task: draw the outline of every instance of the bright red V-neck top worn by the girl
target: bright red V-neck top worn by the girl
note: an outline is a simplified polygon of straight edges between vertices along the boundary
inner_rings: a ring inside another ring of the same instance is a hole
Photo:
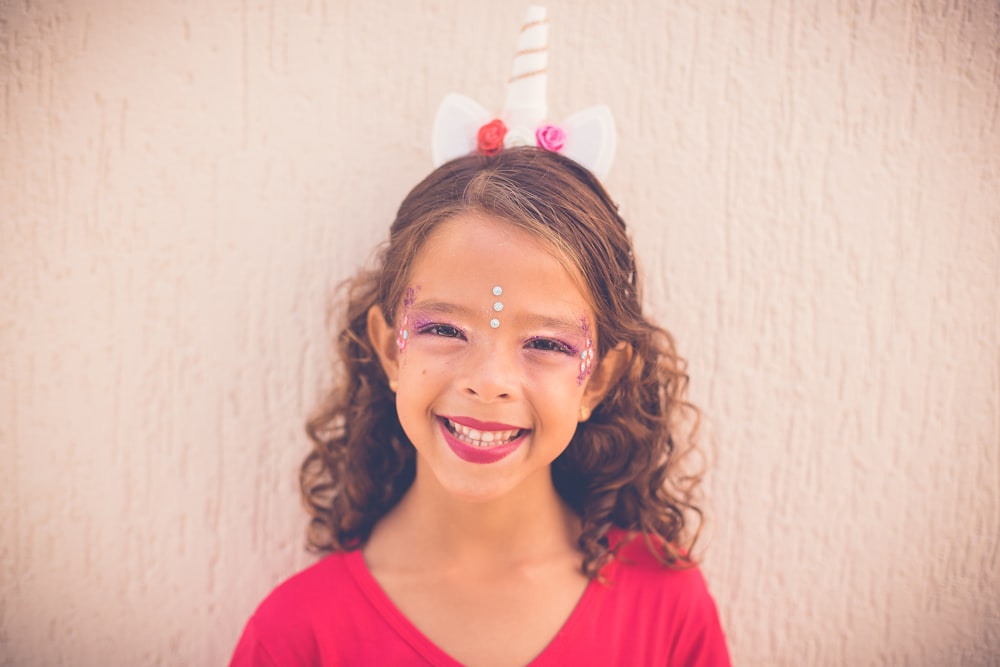
[[[635,539],[602,574],[605,582],[590,582],[530,667],[729,665],[715,602],[696,568],[664,568]],[[307,665],[461,667],[396,608],[360,551],[327,556],[278,586],[230,663]]]

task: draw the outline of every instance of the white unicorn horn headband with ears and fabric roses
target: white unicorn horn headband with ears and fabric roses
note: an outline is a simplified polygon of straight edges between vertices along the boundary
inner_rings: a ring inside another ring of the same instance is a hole
[[[565,155],[599,178],[607,175],[615,156],[615,121],[607,106],[578,111],[559,125],[546,119],[548,36],[545,8],[529,7],[499,117],[465,95],[445,96],[434,118],[435,167],[470,153],[492,155],[512,146],[538,146]]]

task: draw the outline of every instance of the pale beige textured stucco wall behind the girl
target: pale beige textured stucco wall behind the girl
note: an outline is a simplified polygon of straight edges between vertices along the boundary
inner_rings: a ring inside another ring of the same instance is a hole
[[[0,2],[0,664],[222,664],[309,562],[326,297],[524,7]],[[736,662],[997,664],[997,3],[549,10],[712,420]]]

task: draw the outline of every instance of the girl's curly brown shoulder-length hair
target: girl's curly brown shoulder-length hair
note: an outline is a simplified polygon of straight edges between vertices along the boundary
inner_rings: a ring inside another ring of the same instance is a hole
[[[585,168],[534,147],[470,155],[432,172],[403,200],[375,266],[347,282],[346,321],[336,338],[340,377],[307,432],[313,442],[300,486],[316,551],[359,548],[413,482],[416,453],[368,337],[380,306],[388,324],[430,232],[460,213],[508,222],[552,248],[581,281],[596,314],[598,357],[630,349],[621,377],[552,464],[556,490],[580,516],[582,570],[596,576],[614,557],[608,531],[641,534],[665,565],[684,566],[702,513],[698,409],[686,398],[686,364],[672,336],[642,313],[639,273],[625,222]]]

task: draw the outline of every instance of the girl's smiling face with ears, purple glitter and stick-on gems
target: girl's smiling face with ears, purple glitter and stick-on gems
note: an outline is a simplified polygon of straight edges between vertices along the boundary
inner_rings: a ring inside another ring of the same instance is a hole
[[[537,239],[468,213],[414,262],[389,330],[369,316],[418,481],[470,500],[551,485],[549,464],[602,395],[593,311]]]

